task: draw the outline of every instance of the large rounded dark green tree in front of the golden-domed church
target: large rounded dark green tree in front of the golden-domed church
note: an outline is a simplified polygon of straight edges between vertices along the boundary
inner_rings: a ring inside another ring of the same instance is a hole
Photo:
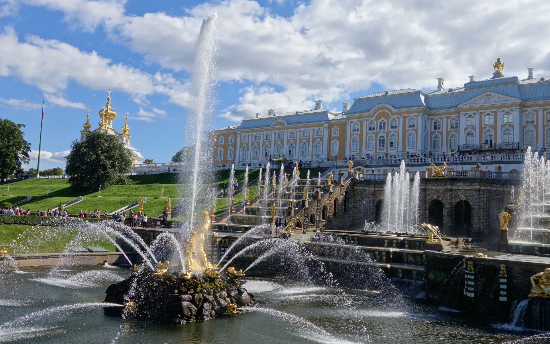
[[[69,184],[75,190],[97,190],[115,184],[130,184],[124,175],[130,171],[130,151],[117,136],[92,133],[82,142],[73,141],[67,157],[65,173],[71,176]]]

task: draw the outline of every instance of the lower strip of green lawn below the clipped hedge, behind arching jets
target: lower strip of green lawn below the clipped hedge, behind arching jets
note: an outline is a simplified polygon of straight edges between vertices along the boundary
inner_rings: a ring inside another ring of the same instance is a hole
[[[7,248],[9,254],[14,250],[8,247],[13,244],[15,253],[62,253],[67,252],[67,245],[99,246],[109,252],[115,252],[114,245],[105,238],[84,234],[65,227],[31,227],[27,225],[0,225],[0,247]]]

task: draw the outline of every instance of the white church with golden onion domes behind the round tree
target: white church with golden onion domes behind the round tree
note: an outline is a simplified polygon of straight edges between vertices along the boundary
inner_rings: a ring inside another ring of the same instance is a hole
[[[83,124],[84,129],[80,130],[80,142],[84,141],[87,135],[96,132],[116,135],[118,136],[118,140],[124,144],[124,148],[130,151],[132,164],[141,163],[144,160],[144,157],[141,156],[139,149],[136,149],[130,145],[132,135],[129,133],[130,128],[128,127],[128,112],[126,113],[126,122],[124,123],[124,127],[122,127],[122,133],[119,133],[117,130],[113,129],[113,120],[117,117],[117,112],[111,107],[112,92],[111,90],[107,92],[109,94],[107,96],[107,105],[103,106],[103,108],[98,111],[101,118],[101,121],[98,123],[99,127],[90,131],[92,126],[90,125],[90,109],[88,109],[88,117],[86,118],[86,123]]]

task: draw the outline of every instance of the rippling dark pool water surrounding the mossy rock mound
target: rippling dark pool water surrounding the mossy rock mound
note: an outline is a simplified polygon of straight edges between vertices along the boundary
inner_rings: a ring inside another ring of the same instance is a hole
[[[95,304],[106,286],[131,275],[128,269],[23,272],[2,275],[4,343],[503,343],[537,335],[423,299],[245,277],[241,282],[260,308],[234,318],[158,325],[108,316]]]

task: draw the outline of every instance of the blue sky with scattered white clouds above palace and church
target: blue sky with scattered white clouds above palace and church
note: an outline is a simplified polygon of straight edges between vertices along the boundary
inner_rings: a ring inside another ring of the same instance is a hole
[[[548,6],[0,0],[0,116],[25,124],[25,138],[37,150],[45,100],[41,167],[64,167],[86,109],[96,128],[111,89],[113,127],[124,125],[128,111],[132,145],[166,162],[185,142],[196,37],[202,18],[214,11],[218,84],[210,128],[270,108],[305,110],[317,99],[340,111],[343,102],[371,92],[434,89],[439,77],[447,87],[460,86],[468,75],[491,77],[497,57],[505,75],[525,78],[533,67],[548,76]]]

